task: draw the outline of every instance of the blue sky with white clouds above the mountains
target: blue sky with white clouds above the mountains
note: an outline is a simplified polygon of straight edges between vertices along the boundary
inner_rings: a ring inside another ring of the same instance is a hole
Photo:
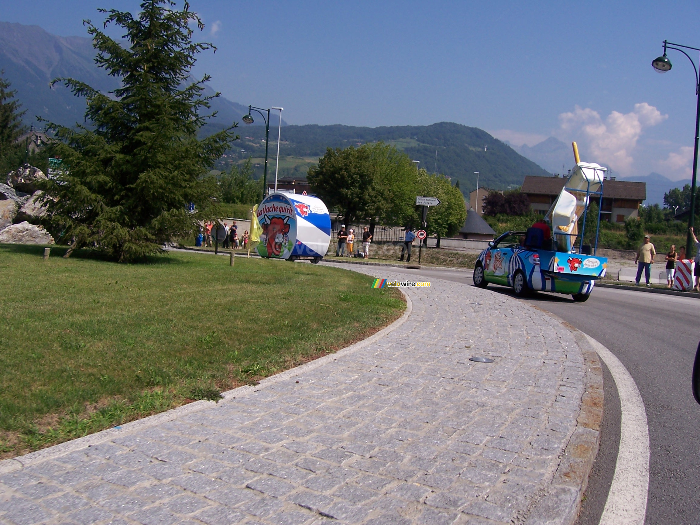
[[[621,176],[689,176],[694,72],[661,41],[700,48],[700,2],[192,0],[218,46],[212,87],[284,106],[292,124],[427,125],[450,120],[513,144],[577,140]],[[137,1],[0,1],[0,19],[85,35],[99,6]],[[698,53],[691,55],[698,59]]]

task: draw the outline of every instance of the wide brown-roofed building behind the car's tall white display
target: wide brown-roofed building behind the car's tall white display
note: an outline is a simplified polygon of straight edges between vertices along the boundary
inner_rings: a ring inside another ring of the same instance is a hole
[[[530,201],[530,208],[546,214],[566,184],[566,177],[540,177],[526,175],[520,188]],[[591,200],[601,207],[601,220],[624,223],[628,218],[637,218],[638,210],[647,198],[647,185],[643,182],[616,181],[610,177],[603,181],[603,202],[591,195]]]

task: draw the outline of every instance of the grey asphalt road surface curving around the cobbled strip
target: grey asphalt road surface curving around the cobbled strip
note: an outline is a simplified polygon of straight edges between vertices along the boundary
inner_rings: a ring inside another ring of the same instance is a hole
[[[471,272],[426,268],[400,271],[471,282]],[[489,288],[512,294],[502,286]],[[547,293],[538,293],[527,301],[607,346],[636,382],[647,412],[651,450],[645,523],[700,523],[700,405],[690,388],[700,339],[700,299],[596,288],[584,303],[575,303],[568,295]],[[603,379],[601,451],[589,479],[581,525],[597,523],[617,458],[619,400],[607,370]]]

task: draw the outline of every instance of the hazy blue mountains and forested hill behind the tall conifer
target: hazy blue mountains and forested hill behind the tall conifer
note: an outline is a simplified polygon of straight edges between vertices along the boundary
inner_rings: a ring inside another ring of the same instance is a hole
[[[55,36],[36,25],[0,22],[0,70],[23,104],[25,123],[43,127],[37,117],[62,125],[83,122],[85,102],[60,84],[50,87],[51,80],[71,77],[81,80],[102,92],[118,87],[118,80],[108,76],[94,64],[92,40],[80,36]],[[207,87],[204,94],[214,94]],[[255,174],[262,174],[265,155],[265,129],[262,118],[253,113],[255,124],[246,126],[241,117],[248,113],[247,106],[218,97],[211,102],[215,118],[202,128],[209,134],[222,127],[239,123],[237,141],[218,167],[240,164],[252,158]],[[279,117],[271,115],[270,127],[276,127]],[[436,123],[429,126],[353,127],[345,125],[286,125],[283,121],[280,172],[283,175],[305,176],[308,167],[318,162],[325,149],[358,146],[368,142],[384,141],[405,151],[420,167],[438,172],[459,181],[461,190],[468,193],[476,186],[496,189],[517,187],[525,175],[548,173],[536,162],[528,160],[507,144],[476,127],[455,123]],[[271,135],[273,135],[271,133]],[[270,148],[270,160],[274,160]],[[274,176],[274,164],[268,167],[268,177]]]

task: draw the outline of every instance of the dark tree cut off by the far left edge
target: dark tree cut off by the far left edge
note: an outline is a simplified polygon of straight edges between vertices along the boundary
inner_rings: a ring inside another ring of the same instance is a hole
[[[22,104],[15,99],[16,90],[10,90],[10,83],[0,71],[0,182],[4,182],[7,172],[16,169],[22,162],[22,144],[18,139],[24,133],[20,111]]]

